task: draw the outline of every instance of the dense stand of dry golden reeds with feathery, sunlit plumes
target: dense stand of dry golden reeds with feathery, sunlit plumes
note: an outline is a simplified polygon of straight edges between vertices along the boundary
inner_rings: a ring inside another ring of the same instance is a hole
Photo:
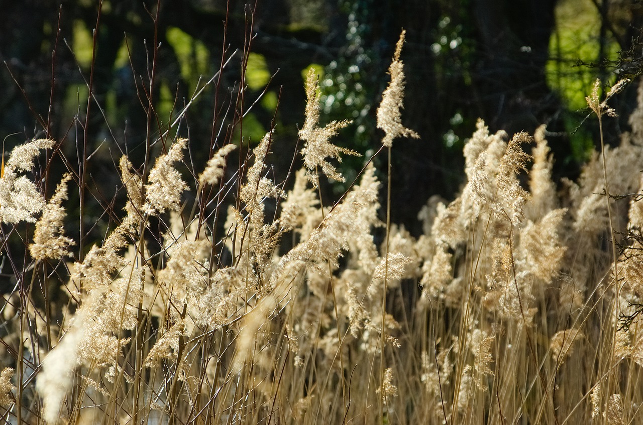
[[[402,44],[377,111],[376,155],[389,158],[394,139],[417,137],[401,124]],[[619,89],[590,95],[599,119]],[[320,199],[322,173],[343,178],[331,160],[355,152],[330,141],[347,123],[318,124],[312,74],[307,94],[304,168],[289,191],[266,172],[272,134],[241,169],[226,167],[228,144],[191,175],[177,171],[188,144],[177,138],[149,173],[122,157],[121,221],[82,260],[63,229],[80,177],[65,175],[47,202],[29,171],[56,142],[15,148],[2,234],[30,254],[3,250],[17,281],[2,304],[5,421],[637,422],[643,92],[631,133],[577,182],[552,181],[544,128],[508,137],[480,121],[466,186],[428,200],[417,239],[390,223],[403,206],[379,204],[387,182],[370,159],[344,196]]]

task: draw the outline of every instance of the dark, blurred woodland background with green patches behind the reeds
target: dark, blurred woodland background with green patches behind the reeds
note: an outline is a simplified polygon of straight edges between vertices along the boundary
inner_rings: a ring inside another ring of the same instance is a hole
[[[404,28],[403,123],[421,139],[395,142],[392,219],[417,232],[426,200],[460,188],[478,117],[510,136],[546,124],[556,177],[573,178],[599,140],[584,100],[593,81],[635,79],[643,62],[640,0],[3,0],[0,10],[5,152],[55,139],[61,168],[91,166],[102,208],[122,152],[142,167],[145,146],[159,153],[176,134],[190,138],[186,162],[199,171],[226,143],[244,158],[274,127],[268,160],[282,182],[301,147],[311,67],[321,120],[353,121],[335,141],[364,155],[344,160],[349,184],[381,144],[376,109]],[[606,121],[608,143],[628,130],[636,86],[610,103],[620,117]],[[347,187],[324,183],[333,199]]]

